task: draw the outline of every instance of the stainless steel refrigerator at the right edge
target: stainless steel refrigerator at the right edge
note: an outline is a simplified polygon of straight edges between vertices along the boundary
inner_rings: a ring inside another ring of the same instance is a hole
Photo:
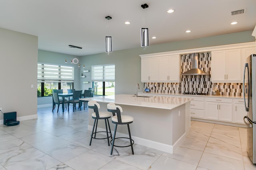
[[[252,54],[246,59],[244,66],[244,106],[247,115],[244,123],[247,128],[247,152],[256,164],[256,55]]]

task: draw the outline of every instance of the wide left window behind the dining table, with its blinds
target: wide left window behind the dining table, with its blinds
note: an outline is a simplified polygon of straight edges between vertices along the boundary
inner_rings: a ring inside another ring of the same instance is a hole
[[[37,96],[49,96],[52,89],[73,89],[74,67],[37,64]]]

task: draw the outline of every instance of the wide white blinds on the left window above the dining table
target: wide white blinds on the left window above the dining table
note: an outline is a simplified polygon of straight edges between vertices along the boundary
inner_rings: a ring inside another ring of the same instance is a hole
[[[74,81],[74,67],[37,64],[37,80]]]

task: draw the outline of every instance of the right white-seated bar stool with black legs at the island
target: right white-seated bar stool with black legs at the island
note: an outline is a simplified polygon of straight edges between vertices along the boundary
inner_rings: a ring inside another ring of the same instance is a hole
[[[112,155],[114,146],[115,147],[131,147],[132,148],[132,154],[134,154],[133,147],[132,147],[132,145],[134,144],[134,141],[132,140],[131,133],[130,133],[130,127],[129,127],[129,124],[132,123],[133,120],[134,120],[133,117],[128,116],[128,115],[121,115],[121,113],[123,112],[122,107],[121,106],[116,106],[114,103],[109,103],[107,105],[107,108],[108,108],[108,111],[112,112],[112,114],[113,114],[112,123],[116,124],[113,139],[110,141],[110,143],[112,142],[111,143],[112,146],[111,146],[110,155]],[[127,125],[129,138],[128,137],[117,137],[116,138],[117,125]],[[116,145],[114,145],[115,139],[120,139],[120,138],[130,139],[130,145],[127,145],[127,146],[116,146]]]

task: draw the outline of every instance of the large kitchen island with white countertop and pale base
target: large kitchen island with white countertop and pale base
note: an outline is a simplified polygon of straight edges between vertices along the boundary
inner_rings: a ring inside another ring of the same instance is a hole
[[[129,94],[100,96],[80,100],[94,100],[100,104],[100,111],[107,110],[108,103],[115,103],[123,109],[124,115],[134,117],[130,125],[134,143],[173,153],[185,140],[190,128],[190,98],[135,97]],[[93,110],[90,109],[90,113]],[[110,120],[111,122],[111,120]],[[89,114],[88,130],[92,130],[93,119]],[[110,123],[112,131],[114,125]],[[97,131],[105,131],[104,121],[98,123]],[[126,126],[118,126],[117,137],[127,137]]]

